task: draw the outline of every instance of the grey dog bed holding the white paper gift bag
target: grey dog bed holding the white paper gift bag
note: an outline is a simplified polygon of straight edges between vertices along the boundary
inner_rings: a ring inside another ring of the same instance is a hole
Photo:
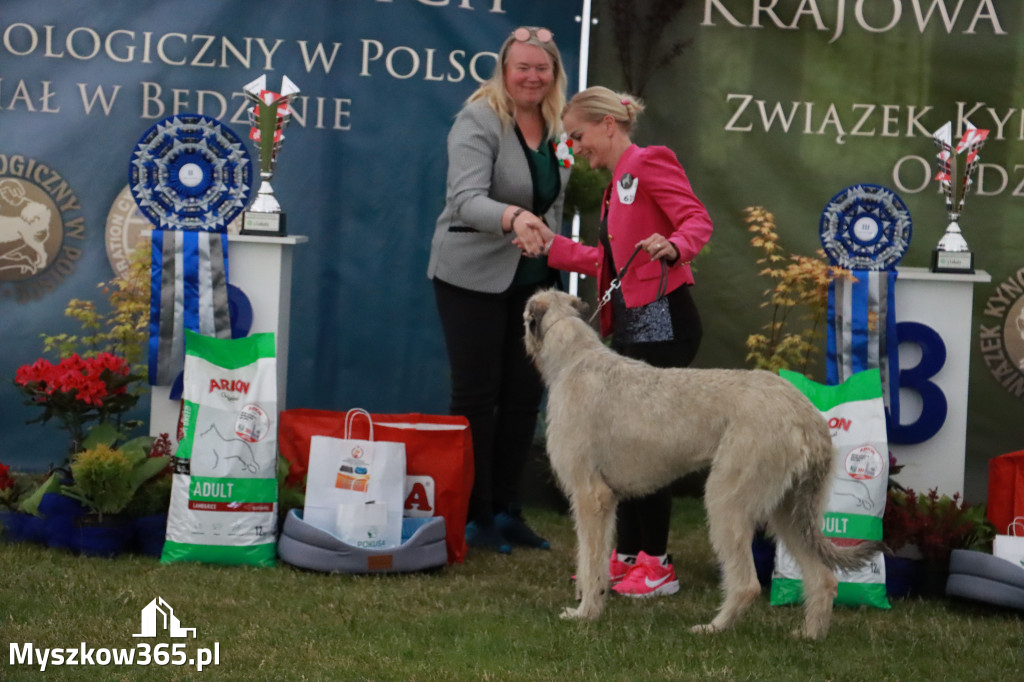
[[[444,518],[403,518],[401,545],[367,550],[302,520],[293,509],[278,539],[278,556],[300,568],[340,573],[390,573],[443,566],[447,561]]]

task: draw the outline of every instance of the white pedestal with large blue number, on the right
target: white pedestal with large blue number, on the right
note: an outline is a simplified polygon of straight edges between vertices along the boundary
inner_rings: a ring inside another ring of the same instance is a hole
[[[964,462],[967,452],[967,399],[971,365],[971,316],[974,285],[991,282],[983,270],[974,274],[942,274],[923,267],[900,267],[896,280],[896,324],[920,323],[933,330],[945,349],[941,369],[927,381],[945,396],[947,412],[942,426],[924,442],[893,442],[889,449],[903,470],[895,476],[900,484],[920,494],[937,487],[939,494],[964,494]],[[918,343],[900,338],[902,370],[918,367],[923,356]],[[932,408],[922,394],[900,388],[900,424],[910,425]]]

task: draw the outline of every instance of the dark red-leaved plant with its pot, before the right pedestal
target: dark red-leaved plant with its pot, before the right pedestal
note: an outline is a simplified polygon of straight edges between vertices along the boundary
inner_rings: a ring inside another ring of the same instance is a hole
[[[926,596],[945,593],[954,549],[985,549],[995,532],[984,506],[966,504],[958,493],[950,497],[931,488],[922,496],[898,485],[889,488],[882,528],[883,542],[893,556],[915,562],[910,594]],[[893,566],[898,570],[897,563]]]

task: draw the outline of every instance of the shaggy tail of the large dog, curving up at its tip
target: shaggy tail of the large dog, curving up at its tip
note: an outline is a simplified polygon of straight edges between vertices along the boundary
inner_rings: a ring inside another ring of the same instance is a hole
[[[791,488],[782,507],[790,517],[791,531],[798,535],[799,540],[822,563],[833,570],[857,570],[878,556],[885,546],[881,542],[863,541],[840,547],[830,542],[821,530],[822,511],[828,495],[833,466],[830,458],[812,463],[806,476]]]

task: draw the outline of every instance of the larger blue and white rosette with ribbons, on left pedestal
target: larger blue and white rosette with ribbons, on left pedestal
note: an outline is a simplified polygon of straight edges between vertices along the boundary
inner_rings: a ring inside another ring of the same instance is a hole
[[[252,160],[216,119],[178,114],[145,131],[128,177],[154,225],[150,383],[166,386],[183,370],[185,329],[231,337],[227,225],[249,201]]]

